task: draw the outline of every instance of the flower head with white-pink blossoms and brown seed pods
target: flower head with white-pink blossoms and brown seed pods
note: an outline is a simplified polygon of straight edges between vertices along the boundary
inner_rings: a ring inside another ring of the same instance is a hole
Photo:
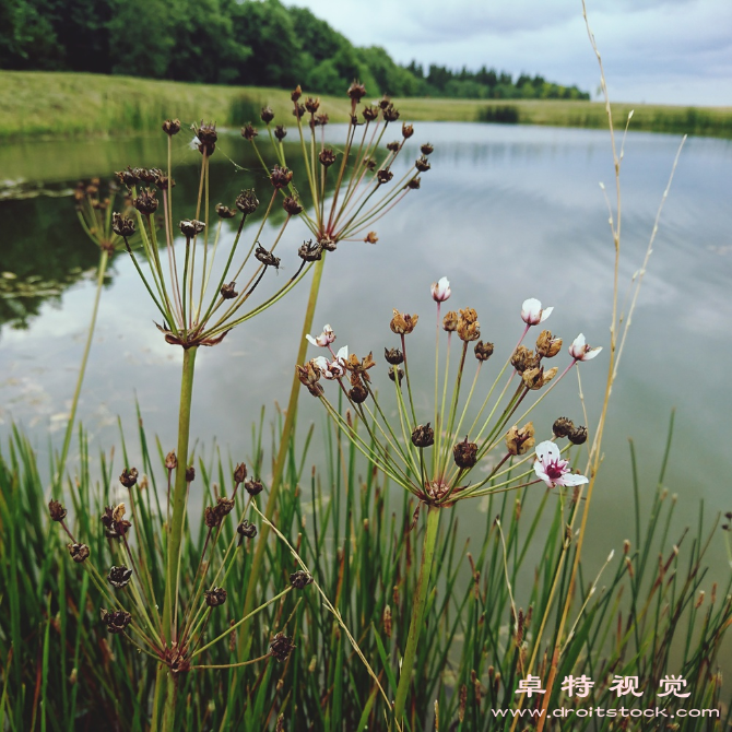
[[[449,506],[454,501],[489,493],[544,483],[550,488],[574,487],[587,477],[572,473],[565,454],[574,445],[587,440],[587,428],[559,417],[545,439],[536,445],[530,412],[579,363],[594,358],[601,351],[578,335],[568,349],[569,361],[562,373],[550,362],[559,355],[563,340],[551,331],[539,332],[533,349],[524,341],[534,327],[541,326],[553,308],[543,308],[538,299],[523,303],[523,330],[487,388],[476,415],[468,418],[476,400],[481,376],[488,368],[494,344],[481,340],[480,322],[473,308],[441,315],[442,303],[451,296],[447,278],[432,285],[436,303],[435,400],[429,415],[418,414],[412,397],[406,342],[415,330],[417,315],[393,311],[390,322],[399,341],[386,347],[385,358],[393,387],[397,410],[382,406],[383,394],[374,388],[370,371],[376,366],[373,353],[359,358],[347,346],[333,349],[335,333],[330,326],[308,341],[328,351],[297,367],[297,374],[309,392],[320,399],[329,415],[354,445],[394,482],[414,494],[420,506]],[[445,355],[440,357],[441,333],[446,334]],[[456,349],[457,346],[457,349]],[[456,353],[457,351],[457,353]],[[470,351],[475,369],[468,394],[463,398],[470,369]],[[454,361],[457,359],[457,369]],[[323,381],[334,381],[350,405],[341,413]],[[352,414],[361,417],[367,434],[359,434]],[[388,415],[394,414],[391,418]],[[553,432],[553,435],[552,435]],[[557,440],[567,438],[560,448]],[[479,464],[487,465],[475,479]],[[486,474],[487,473],[487,474]],[[417,508],[418,510],[418,508]],[[415,517],[416,518],[416,517]]]

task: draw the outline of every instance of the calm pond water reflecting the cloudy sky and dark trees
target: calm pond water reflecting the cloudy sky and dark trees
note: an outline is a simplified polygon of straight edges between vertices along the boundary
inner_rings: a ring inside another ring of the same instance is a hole
[[[178,200],[188,194],[192,201],[199,155],[179,137],[174,153],[176,190],[181,191]],[[546,324],[566,343],[583,332],[590,343],[606,345],[613,245],[599,182],[613,189],[607,133],[420,123],[413,138],[415,151],[416,141],[426,140],[435,144],[433,169],[423,176],[422,190],[410,193],[379,222],[378,244],[343,244],[329,256],[316,316],[318,332],[330,322],[339,345],[380,354],[385,345],[397,345],[389,331],[392,307],[417,312],[425,328],[422,338],[416,337],[420,328],[411,337],[411,358],[432,364],[429,284],[447,275],[453,292],[450,307],[477,309],[483,337],[496,344],[500,363],[520,333],[519,310],[527,297],[555,307]],[[642,261],[678,144],[673,135],[627,135],[622,293]],[[128,164],[166,167],[163,145],[163,140],[144,139],[0,149],[0,272],[9,273],[0,291],[3,441],[12,420],[29,432],[42,456],[47,454],[49,429],[54,445],[62,436],[97,260],[75,219],[71,198],[75,179],[108,176]],[[233,200],[252,184],[267,185],[245,150],[238,135],[223,140],[214,158],[212,196],[216,200]],[[618,550],[631,533],[628,438],[638,449],[647,506],[656,489],[672,408],[676,427],[665,485],[678,495],[674,530],[681,533],[687,521],[695,524],[701,499],[708,519],[732,510],[728,447],[731,184],[732,142],[689,139],[663,211],[613,392],[590,519],[587,556],[591,567],[599,566],[611,548]],[[192,215],[192,211],[178,213],[179,217]],[[288,229],[287,236],[282,246],[294,249],[305,231]],[[290,269],[293,262],[291,257]],[[291,273],[285,269],[280,276]],[[307,283],[300,285],[261,317],[233,331],[222,345],[202,350],[192,432],[204,450],[215,437],[234,459],[250,454],[250,426],[262,404],[272,414],[275,402],[286,403],[307,290]],[[19,292],[22,298],[12,297]],[[175,445],[180,352],[163,341],[154,319],[154,306],[128,257],[116,256],[80,405],[80,417],[92,435],[92,452],[118,441],[118,415],[126,427],[133,427],[135,400],[149,433],[157,434],[165,449]],[[606,351],[581,368],[590,425],[597,422],[606,378],[604,355]],[[386,380],[382,363],[379,359],[379,376]],[[432,369],[426,371],[415,394],[418,405],[426,405],[432,393]],[[309,421],[323,421],[306,392],[300,405],[303,428]],[[576,378],[567,379],[542,408],[534,420],[538,437],[550,436],[556,416],[583,422]],[[320,435],[317,429],[311,454],[316,463]],[[467,503],[458,509],[465,534],[482,534],[489,521],[476,508],[484,507]],[[730,569],[719,530],[709,560],[711,575],[724,582]]]

